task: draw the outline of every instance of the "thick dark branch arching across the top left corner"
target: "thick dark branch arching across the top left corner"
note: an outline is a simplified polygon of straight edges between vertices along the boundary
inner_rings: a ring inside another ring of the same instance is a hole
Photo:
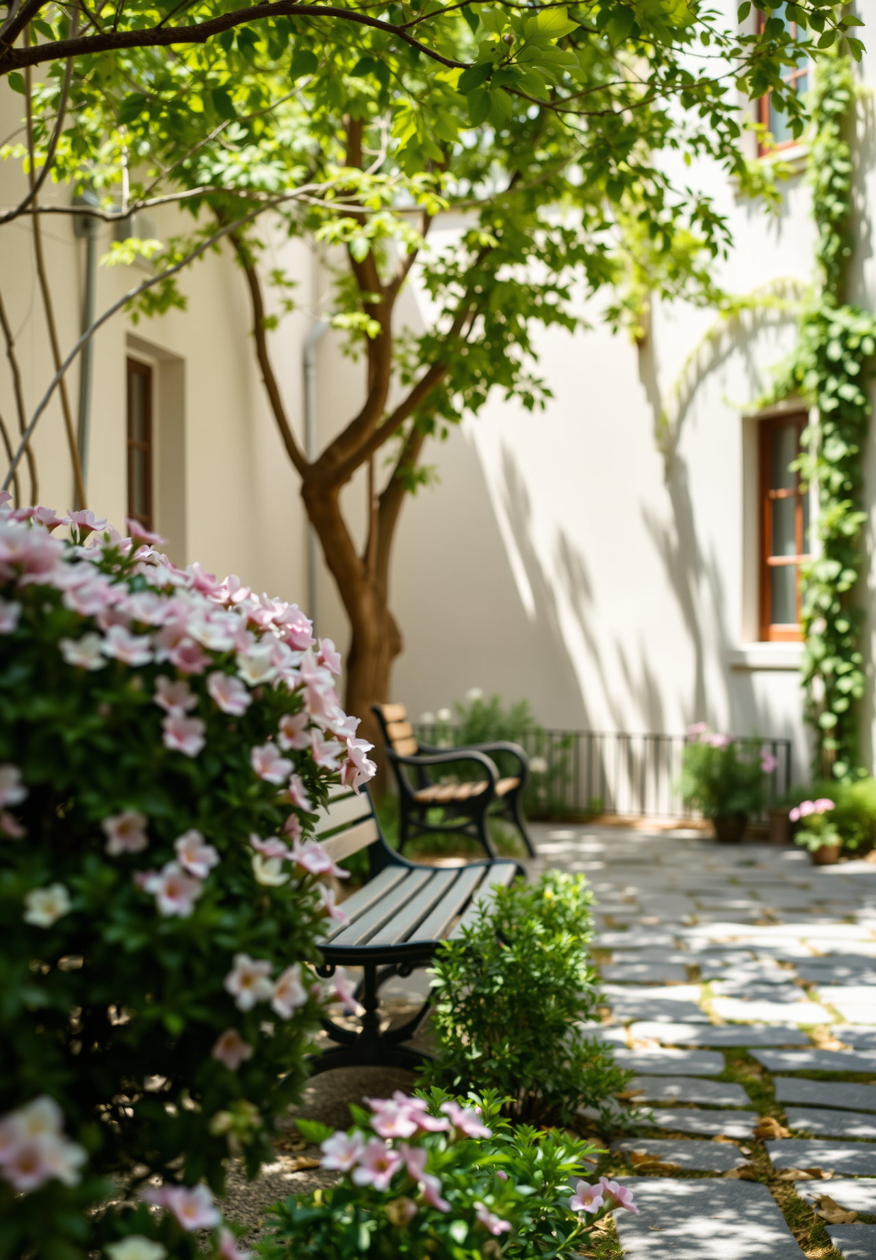
[[[25,9],[33,16],[43,8],[48,0],[30,0]],[[25,9],[21,10],[14,23],[18,34],[26,21],[21,21]],[[220,35],[224,30],[234,26],[243,26],[250,21],[261,21],[266,18],[281,18],[295,15],[296,18],[334,18],[337,21],[351,21],[359,26],[371,26],[375,30],[385,30],[390,35],[404,40],[415,48],[424,57],[433,62],[439,62],[449,69],[466,69],[467,62],[454,62],[449,57],[442,57],[433,48],[414,39],[404,26],[394,25],[390,21],[381,21],[379,18],[370,18],[365,13],[356,13],[352,9],[335,9],[332,5],[297,4],[296,0],[274,0],[273,4],[256,4],[249,9],[234,9],[232,13],[220,14],[209,21],[196,23],[193,26],[152,26],[147,30],[103,30],[99,35],[87,35],[78,39],[58,39],[47,44],[35,44],[33,48],[8,48],[0,55],[0,76],[10,71],[24,69],[25,66],[40,66],[43,62],[57,62],[64,57],[87,57],[92,53],[106,53],[116,48],[167,48],[172,44],[204,44],[211,35]],[[13,28],[6,37],[6,43],[14,38]]]

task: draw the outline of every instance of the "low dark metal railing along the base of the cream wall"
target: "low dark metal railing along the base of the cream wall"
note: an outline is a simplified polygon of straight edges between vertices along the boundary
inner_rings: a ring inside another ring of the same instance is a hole
[[[452,726],[418,726],[423,743],[453,747]],[[530,814],[624,814],[692,818],[678,793],[683,735],[629,731],[527,731],[517,737],[530,757]],[[790,788],[792,741],[761,740],[775,759],[768,776],[768,805]],[[501,759],[496,759],[497,761]],[[510,767],[508,767],[510,769]],[[500,765],[500,770],[502,766]]]

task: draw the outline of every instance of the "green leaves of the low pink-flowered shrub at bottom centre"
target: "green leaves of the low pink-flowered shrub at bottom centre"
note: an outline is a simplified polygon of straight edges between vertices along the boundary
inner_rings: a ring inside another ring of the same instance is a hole
[[[439,1089],[420,1096],[433,1116],[453,1099]],[[570,1183],[584,1172],[583,1157],[595,1148],[555,1130],[512,1128],[501,1116],[501,1099],[490,1091],[469,1095],[466,1104],[466,1115],[485,1124],[488,1137],[469,1138],[457,1128],[420,1131],[409,1139],[409,1149],[427,1153],[419,1178],[403,1166],[386,1189],[375,1189],[355,1184],[347,1173],[336,1186],[291,1196],[272,1210],[271,1240],[259,1249],[264,1260],[364,1255],[375,1260],[571,1260],[579,1255],[592,1242],[587,1226],[609,1210],[605,1205],[588,1213],[585,1225],[569,1207]],[[371,1137],[375,1118],[359,1108],[350,1110],[355,1121],[350,1137]],[[325,1129],[315,1137],[330,1134]],[[398,1149],[396,1143],[393,1147]],[[434,1179],[433,1186],[438,1183],[443,1208],[425,1198],[427,1177]],[[510,1228],[492,1232],[486,1213],[496,1227],[507,1223]]]

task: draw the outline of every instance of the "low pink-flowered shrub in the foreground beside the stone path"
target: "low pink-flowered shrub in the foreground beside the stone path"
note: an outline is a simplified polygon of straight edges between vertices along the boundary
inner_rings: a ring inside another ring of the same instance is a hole
[[[371,1099],[371,1115],[351,1108],[355,1125],[334,1133],[300,1121],[322,1143],[322,1167],[339,1184],[289,1197],[273,1210],[267,1260],[486,1260],[571,1257],[608,1212],[638,1212],[632,1193],[602,1177],[576,1181],[597,1148],[556,1131],[512,1129],[495,1094],[473,1106],[441,1090]],[[570,1193],[570,1191],[573,1191]]]

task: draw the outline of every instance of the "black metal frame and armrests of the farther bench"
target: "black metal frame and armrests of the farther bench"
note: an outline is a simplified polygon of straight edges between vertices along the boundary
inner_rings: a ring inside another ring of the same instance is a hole
[[[490,838],[487,825],[487,818],[492,816],[505,819],[505,822],[516,828],[526,845],[526,852],[530,857],[535,857],[535,849],[526,830],[522,808],[524,793],[529,779],[529,757],[519,743],[497,740],[492,743],[466,745],[458,748],[437,748],[432,745],[420,743],[417,752],[404,755],[396,752],[393,747],[391,733],[388,730],[388,722],[381,706],[374,704],[371,712],[380,723],[384,737],[384,751],[393,767],[398,786],[399,852],[403,852],[405,844],[417,835],[456,833],[478,840],[487,856],[496,858],[496,847]],[[520,766],[515,776],[519,779],[517,785],[502,796],[496,790],[500,782],[500,774],[495,761],[490,757],[490,753],[496,752],[505,752],[516,757]],[[429,770],[462,761],[473,761],[483,770],[482,779],[487,782],[483,791],[473,794],[462,801],[428,801],[417,799],[418,791],[434,786],[428,775]],[[408,767],[413,774],[417,786],[412,785],[404,767]],[[444,816],[441,822],[433,823],[429,820],[429,811],[433,809],[442,810]],[[459,819],[459,822],[452,822],[452,819]]]

